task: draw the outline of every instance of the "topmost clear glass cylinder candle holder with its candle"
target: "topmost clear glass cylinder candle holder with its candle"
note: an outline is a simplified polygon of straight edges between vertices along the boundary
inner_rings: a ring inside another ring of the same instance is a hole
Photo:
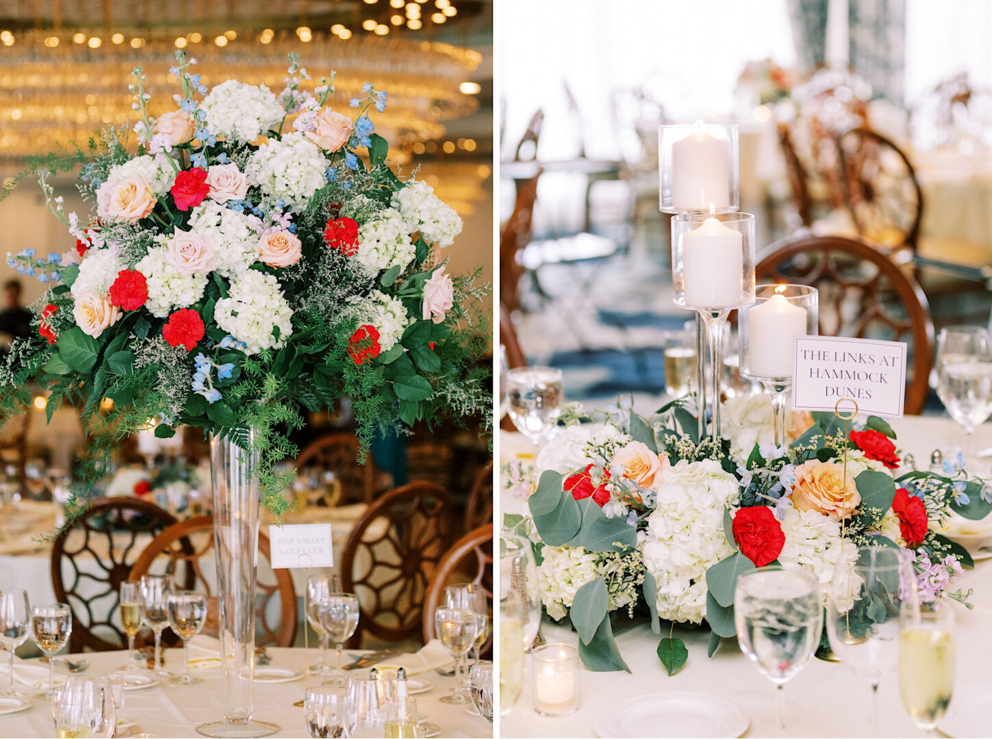
[[[660,207],[665,213],[732,213],[738,192],[737,125],[696,121],[658,127]]]

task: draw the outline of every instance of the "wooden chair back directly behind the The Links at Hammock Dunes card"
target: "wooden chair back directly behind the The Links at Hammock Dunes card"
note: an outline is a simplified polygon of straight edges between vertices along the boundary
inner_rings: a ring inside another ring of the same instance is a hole
[[[920,414],[930,393],[933,323],[927,296],[884,247],[820,236],[780,242],[760,255],[759,283],[819,289],[819,332],[827,336],[910,339],[907,414]]]

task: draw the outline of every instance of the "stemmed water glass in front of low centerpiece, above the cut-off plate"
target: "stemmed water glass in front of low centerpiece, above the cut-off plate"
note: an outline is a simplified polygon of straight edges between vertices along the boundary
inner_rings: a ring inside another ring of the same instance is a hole
[[[808,572],[762,567],[737,578],[734,623],[741,652],[775,684],[775,725],[786,732],[785,684],[819,644],[823,606]]]

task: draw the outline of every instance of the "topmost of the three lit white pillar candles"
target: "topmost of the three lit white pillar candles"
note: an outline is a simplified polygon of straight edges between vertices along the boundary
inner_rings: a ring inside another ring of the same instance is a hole
[[[727,142],[696,129],[672,145],[672,205],[677,210],[706,210],[730,204]]]

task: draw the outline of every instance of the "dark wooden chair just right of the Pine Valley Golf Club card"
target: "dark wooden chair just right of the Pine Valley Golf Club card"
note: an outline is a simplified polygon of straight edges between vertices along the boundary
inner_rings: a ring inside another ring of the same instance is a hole
[[[358,596],[361,616],[349,642],[367,633],[402,642],[421,631],[428,583],[447,549],[450,502],[438,485],[391,490],[358,520],[341,554],[341,585]]]

